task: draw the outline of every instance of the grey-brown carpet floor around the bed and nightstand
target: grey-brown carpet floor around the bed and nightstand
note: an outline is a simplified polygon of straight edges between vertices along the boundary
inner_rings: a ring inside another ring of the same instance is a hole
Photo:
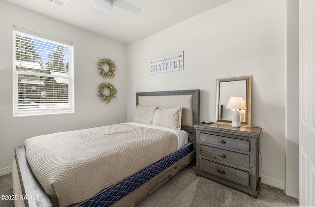
[[[194,173],[187,166],[170,178],[137,207],[289,207],[299,200],[286,196],[284,190],[261,184],[257,199],[234,188]],[[0,177],[0,195],[12,195],[11,174]],[[13,201],[0,200],[0,207],[14,207]]]

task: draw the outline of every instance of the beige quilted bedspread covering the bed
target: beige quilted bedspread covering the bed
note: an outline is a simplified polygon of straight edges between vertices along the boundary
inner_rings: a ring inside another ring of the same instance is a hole
[[[114,124],[33,137],[25,141],[25,148],[32,172],[53,206],[66,207],[173,153],[177,137],[168,131]]]

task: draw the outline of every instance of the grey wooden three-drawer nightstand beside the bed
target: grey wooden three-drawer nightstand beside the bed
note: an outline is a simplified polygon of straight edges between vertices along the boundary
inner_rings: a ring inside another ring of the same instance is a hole
[[[196,174],[258,195],[259,127],[234,128],[227,124],[194,125],[196,129]]]

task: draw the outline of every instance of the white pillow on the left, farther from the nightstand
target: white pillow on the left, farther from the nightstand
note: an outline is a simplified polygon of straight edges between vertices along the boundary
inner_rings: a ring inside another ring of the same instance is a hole
[[[157,107],[150,106],[136,106],[133,122],[152,124]]]

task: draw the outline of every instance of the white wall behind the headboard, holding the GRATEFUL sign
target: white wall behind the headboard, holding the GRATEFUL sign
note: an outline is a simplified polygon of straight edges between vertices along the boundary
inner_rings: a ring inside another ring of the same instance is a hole
[[[252,75],[252,125],[262,127],[262,181],[285,183],[285,1],[233,0],[127,46],[127,120],[135,92],[200,89],[214,120],[216,79]],[[184,51],[184,70],[149,75],[149,60]],[[297,166],[298,167],[298,166]]]

